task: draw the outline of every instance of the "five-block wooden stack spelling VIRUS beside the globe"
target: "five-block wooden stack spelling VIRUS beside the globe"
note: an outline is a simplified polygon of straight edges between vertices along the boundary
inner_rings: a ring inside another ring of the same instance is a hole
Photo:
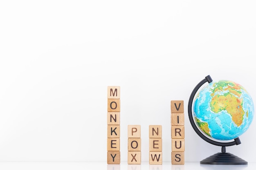
[[[172,164],[184,164],[185,132],[184,132],[184,101],[171,101],[171,138],[172,138]]]

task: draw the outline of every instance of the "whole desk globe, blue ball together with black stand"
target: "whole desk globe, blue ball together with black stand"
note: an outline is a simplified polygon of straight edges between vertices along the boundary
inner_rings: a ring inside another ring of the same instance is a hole
[[[209,84],[198,92],[206,82]],[[254,117],[252,97],[243,86],[228,80],[213,82],[208,75],[192,91],[188,113],[195,132],[210,144],[222,147],[221,152],[200,161],[200,164],[248,164],[226,152],[226,146],[241,144],[239,136],[249,128]]]

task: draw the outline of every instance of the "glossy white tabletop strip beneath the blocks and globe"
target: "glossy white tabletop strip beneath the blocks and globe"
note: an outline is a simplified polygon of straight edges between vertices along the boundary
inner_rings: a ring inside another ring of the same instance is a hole
[[[108,165],[106,162],[0,162],[0,170],[255,170],[256,163],[248,165],[201,165],[199,162],[185,162],[184,165]]]

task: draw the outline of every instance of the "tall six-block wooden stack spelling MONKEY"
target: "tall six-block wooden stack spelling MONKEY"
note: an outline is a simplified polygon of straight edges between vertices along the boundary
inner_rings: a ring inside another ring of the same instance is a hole
[[[120,164],[120,86],[108,86],[107,163]]]

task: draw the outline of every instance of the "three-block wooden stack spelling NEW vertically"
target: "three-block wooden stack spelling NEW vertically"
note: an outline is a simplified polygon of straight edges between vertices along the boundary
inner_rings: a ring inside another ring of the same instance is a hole
[[[149,164],[162,164],[162,125],[149,125]]]

